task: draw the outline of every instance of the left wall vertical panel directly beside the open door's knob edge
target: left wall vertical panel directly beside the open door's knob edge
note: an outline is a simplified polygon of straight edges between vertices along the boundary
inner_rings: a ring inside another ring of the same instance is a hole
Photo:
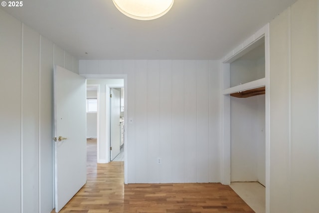
[[[49,213],[53,195],[53,43],[41,37],[40,45],[40,213]]]

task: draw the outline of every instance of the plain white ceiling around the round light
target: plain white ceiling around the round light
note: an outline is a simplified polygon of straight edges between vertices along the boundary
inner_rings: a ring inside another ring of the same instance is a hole
[[[2,8],[79,59],[220,59],[295,1],[175,0],[150,21],[123,15],[112,0]]]

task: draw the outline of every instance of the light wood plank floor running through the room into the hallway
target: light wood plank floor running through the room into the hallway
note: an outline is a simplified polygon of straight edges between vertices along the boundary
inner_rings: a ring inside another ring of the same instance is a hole
[[[254,213],[221,184],[124,185],[124,162],[96,164],[95,145],[88,141],[87,184],[60,213]]]

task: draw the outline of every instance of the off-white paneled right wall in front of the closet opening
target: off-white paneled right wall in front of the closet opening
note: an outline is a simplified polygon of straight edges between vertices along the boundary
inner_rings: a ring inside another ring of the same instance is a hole
[[[319,209],[318,0],[270,23],[270,212]]]

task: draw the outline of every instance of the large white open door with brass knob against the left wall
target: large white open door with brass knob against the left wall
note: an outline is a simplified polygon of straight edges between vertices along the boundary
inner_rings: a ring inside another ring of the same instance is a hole
[[[54,193],[57,213],[86,183],[85,99],[85,78],[56,66],[54,69],[54,137],[56,137]]]

